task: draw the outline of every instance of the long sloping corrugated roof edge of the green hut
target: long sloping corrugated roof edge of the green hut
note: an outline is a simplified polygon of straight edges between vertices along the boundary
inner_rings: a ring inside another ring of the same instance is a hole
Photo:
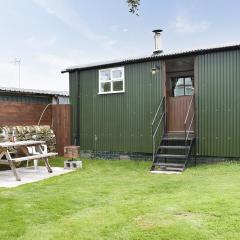
[[[167,53],[167,54],[164,54],[164,53],[153,54],[153,55],[143,56],[143,57],[138,57],[138,58],[136,57],[136,58],[129,58],[129,59],[118,59],[118,60],[102,61],[102,62],[95,62],[95,63],[90,63],[90,64],[83,64],[83,65],[76,65],[76,66],[66,68],[65,70],[62,71],[62,73],[72,72],[75,70],[95,68],[95,67],[100,67],[100,66],[102,67],[102,66],[111,66],[111,65],[116,65],[116,64],[146,62],[146,61],[152,61],[152,60],[158,60],[158,59],[190,56],[190,55],[197,55],[197,54],[210,53],[210,52],[229,51],[229,50],[235,50],[235,49],[240,49],[240,44],[214,47],[214,48],[202,48],[202,49],[181,51],[181,52],[175,52],[175,53]]]

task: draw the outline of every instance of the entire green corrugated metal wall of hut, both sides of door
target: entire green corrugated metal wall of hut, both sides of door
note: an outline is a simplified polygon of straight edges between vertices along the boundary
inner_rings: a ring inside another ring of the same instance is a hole
[[[239,157],[240,51],[195,59],[197,154]],[[98,69],[70,73],[72,138],[79,133],[82,150],[151,152],[151,121],[162,97],[162,73],[150,72],[155,64],[161,62],[126,65],[124,94],[98,95]]]

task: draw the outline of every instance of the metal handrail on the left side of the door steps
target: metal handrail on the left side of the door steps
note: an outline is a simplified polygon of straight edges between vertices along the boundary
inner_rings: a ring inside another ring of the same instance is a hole
[[[155,122],[156,120],[158,119],[158,116],[160,114],[160,109],[161,107],[164,107],[163,108],[163,111],[161,112],[161,115],[160,115],[160,119],[159,119],[159,122],[155,128]],[[165,129],[165,122],[166,122],[166,112],[165,112],[165,96],[161,99],[159,105],[158,105],[158,108],[157,108],[157,111],[154,115],[154,118],[153,118],[153,121],[152,121],[152,153],[153,153],[153,161],[154,161],[154,155],[156,153],[156,135],[158,133],[158,130],[159,130],[159,127],[164,119],[164,129]],[[160,144],[160,143],[159,143]]]

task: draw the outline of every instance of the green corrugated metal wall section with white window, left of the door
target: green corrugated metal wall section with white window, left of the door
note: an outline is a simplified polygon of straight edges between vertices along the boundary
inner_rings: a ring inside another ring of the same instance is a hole
[[[70,73],[72,132],[74,138],[77,128],[76,116],[79,114],[81,149],[149,153],[152,151],[151,121],[162,97],[162,72],[152,75],[151,69],[154,65],[161,66],[161,63],[126,65],[126,92],[123,94],[98,95],[98,69]],[[77,79],[80,79],[79,109],[76,109]]]

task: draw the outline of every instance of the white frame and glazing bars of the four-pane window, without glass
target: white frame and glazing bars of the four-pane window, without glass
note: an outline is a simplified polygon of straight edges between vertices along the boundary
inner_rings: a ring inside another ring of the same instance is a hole
[[[113,71],[121,70],[122,71],[122,78],[113,78]],[[110,80],[101,80],[101,72],[110,71]],[[113,83],[114,82],[123,82],[123,90],[121,91],[113,91]],[[111,84],[111,91],[109,92],[102,92],[101,91],[101,83],[110,83]],[[98,94],[113,94],[113,93],[124,93],[125,92],[125,71],[124,67],[114,67],[114,68],[105,68],[100,69],[98,71]]]

